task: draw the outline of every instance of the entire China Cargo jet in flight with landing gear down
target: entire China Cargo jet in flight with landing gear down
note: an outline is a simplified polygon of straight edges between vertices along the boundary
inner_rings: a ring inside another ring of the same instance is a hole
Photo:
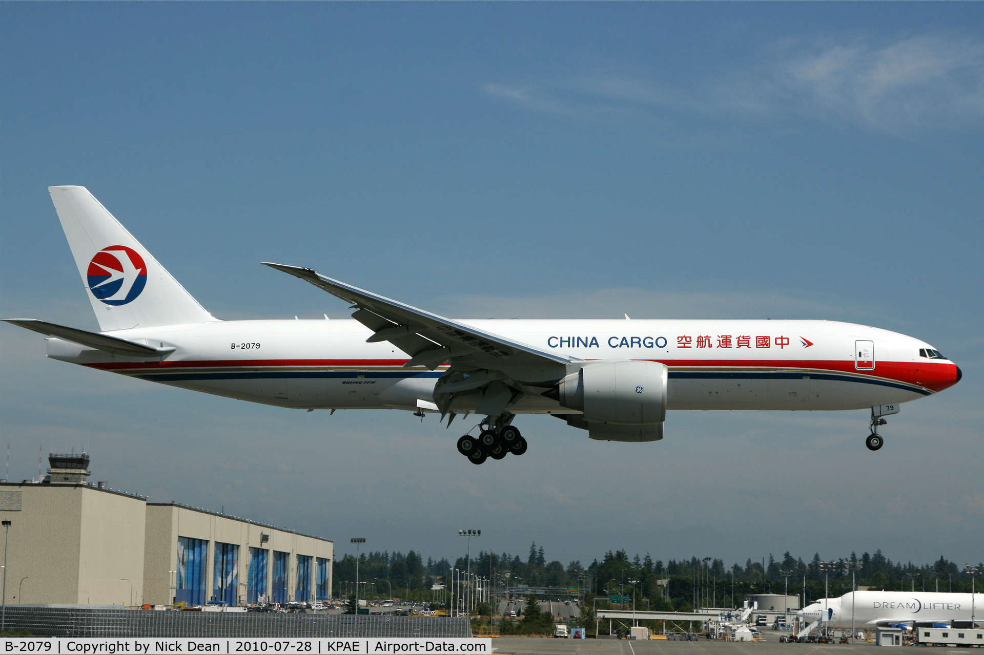
[[[10,320],[47,356],[241,400],[304,409],[485,417],[458,441],[476,464],[526,441],[517,414],[554,414],[591,439],[662,439],[667,409],[872,408],[867,446],[898,403],[953,386],[930,344],[830,321],[451,320],[267,264],[337,296],[354,321],[220,321],[84,187],[50,187],[100,332]],[[628,318],[628,317],[626,317]],[[327,317],[326,317],[327,319]]]

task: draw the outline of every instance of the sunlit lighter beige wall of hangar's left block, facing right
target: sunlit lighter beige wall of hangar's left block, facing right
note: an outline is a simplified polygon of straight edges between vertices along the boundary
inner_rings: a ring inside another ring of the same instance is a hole
[[[79,490],[82,530],[75,602],[142,605],[147,503],[92,487]]]

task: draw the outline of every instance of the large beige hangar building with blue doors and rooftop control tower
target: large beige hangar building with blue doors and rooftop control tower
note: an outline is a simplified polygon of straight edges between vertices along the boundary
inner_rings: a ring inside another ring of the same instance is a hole
[[[229,606],[327,599],[334,543],[90,484],[89,455],[0,483],[7,598],[17,604]]]

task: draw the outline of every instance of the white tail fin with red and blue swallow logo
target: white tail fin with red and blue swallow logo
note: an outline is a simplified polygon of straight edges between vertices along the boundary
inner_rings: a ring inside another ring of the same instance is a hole
[[[48,187],[101,331],[215,321],[85,187]]]

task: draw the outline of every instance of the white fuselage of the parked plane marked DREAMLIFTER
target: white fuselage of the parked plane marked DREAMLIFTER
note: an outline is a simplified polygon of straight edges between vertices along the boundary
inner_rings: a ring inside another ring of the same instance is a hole
[[[825,614],[830,617],[829,627],[851,627],[851,607],[854,608],[854,625],[862,627],[874,624],[951,623],[970,621],[971,614],[981,618],[984,594],[953,594],[908,591],[856,591],[840,598],[820,599],[803,608],[803,621],[812,624]]]

